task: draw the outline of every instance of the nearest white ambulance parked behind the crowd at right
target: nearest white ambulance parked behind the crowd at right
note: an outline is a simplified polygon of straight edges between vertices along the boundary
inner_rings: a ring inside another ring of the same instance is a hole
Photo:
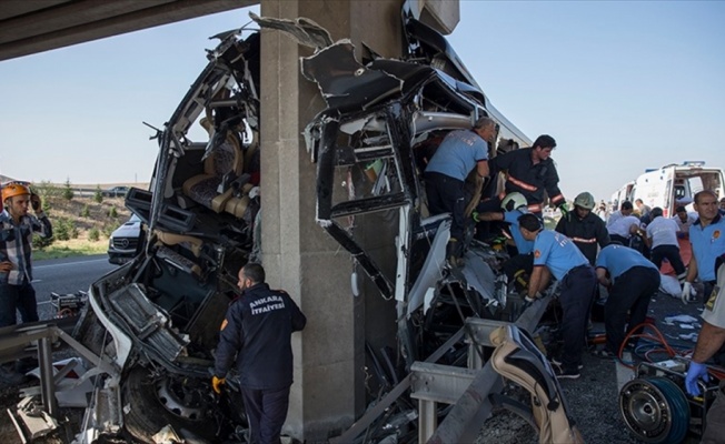
[[[629,193],[632,203],[642,199],[649,208],[659,206],[663,215],[675,214],[677,206],[693,210],[693,199],[698,191],[713,190],[718,198],[725,195],[725,179],[719,168],[706,168],[702,161],[686,161],[646,170],[637,178]]]

